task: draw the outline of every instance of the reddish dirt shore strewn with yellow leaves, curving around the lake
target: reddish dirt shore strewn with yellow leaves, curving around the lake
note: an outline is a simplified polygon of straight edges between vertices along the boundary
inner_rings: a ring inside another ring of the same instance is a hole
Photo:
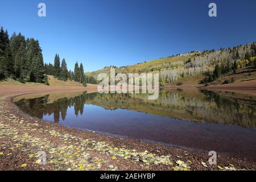
[[[95,92],[96,86],[0,86],[0,170],[209,170],[203,166],[209,166],[208,152],[56,125],[31,118],[11,102],[27,93],[80,90]],[[46,151],[45,165],[38,164],[39,150]],[[256,169],[255,162],[223,155],[211,169],[233,166]]]

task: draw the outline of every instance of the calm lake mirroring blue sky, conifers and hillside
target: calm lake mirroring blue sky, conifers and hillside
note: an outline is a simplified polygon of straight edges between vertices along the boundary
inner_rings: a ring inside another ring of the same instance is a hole
[[[14,99],[33,117],[120,138],[255,159],[256,97],[198,89],[147,94],[40,93]]]

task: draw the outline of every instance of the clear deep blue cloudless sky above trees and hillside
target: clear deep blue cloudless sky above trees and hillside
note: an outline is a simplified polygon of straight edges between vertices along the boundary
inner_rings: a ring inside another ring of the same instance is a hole
[[[255,9],[255,0],[0,0],[0,26],[38,39],[45,63],[58,53],[88,72],[254,42]]]

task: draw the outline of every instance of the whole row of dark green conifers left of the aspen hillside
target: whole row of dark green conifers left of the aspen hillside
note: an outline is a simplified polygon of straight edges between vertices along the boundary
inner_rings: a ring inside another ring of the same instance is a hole
[[[12,78],[20,82],[39,82],[48,85],[47,75],[53,75],[59,80],[77,81],[86,86],[87,83],[96,84],[97,81],[85,76],[82,63],[76,62],[75,70],[68,71],[65,59],[61,61],[55,55],[54,64],[43,61],[42,49],[39,41],[34,38],[25,38],[24,35],[14,32],[11,37],[7,30],[0,30],[0,80]]]

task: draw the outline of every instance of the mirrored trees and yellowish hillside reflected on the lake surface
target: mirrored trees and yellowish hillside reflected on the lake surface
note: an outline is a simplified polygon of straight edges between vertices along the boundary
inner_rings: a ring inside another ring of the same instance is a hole
[[[178,90],[162,90],[158,100],[147,100],[146,94],[99,94],[86,92],[73,98],[60,98],[47,104],[48,97],[19,100],[16,104],[26,113],[40,119],[54,115],[65,120],[68,107],[75,114],[84,113],[84,105],[92,104],[105,109],[127,109],[143,113],[190,120],[214,122],[243,127],[256,127],[256,101],[249,98],[230,98],[222,94],[201,90],[196,94]],[[86,109],[86,108],[85,108]]]

